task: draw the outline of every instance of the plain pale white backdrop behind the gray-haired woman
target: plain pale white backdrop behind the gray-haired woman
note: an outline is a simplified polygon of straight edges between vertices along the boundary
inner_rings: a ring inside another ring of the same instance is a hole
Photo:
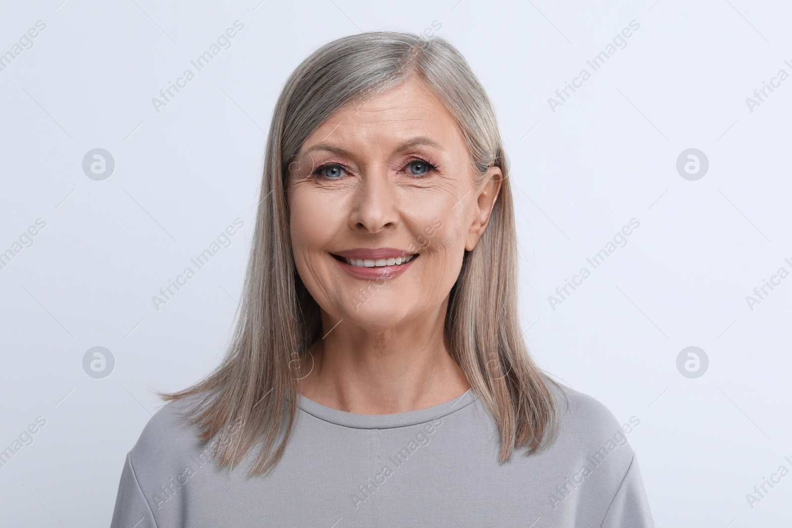
[[[628,438],[657,526],[790,526],[792,476],[746,500],[792,469],[792,278],[746,302],[792,272],[792,79],[746,103],[792,74],[786,2],[61,1],[4,2],[0,17],[0,53],[46,24],[0,71],[0,252],[46,222],[0,269],[0,449],[47,420],[0,468],[3,526],[107,526],[124,456],[161,405],[152,390],[219,362],[291,70],[338,36],[438,24],[497,107],[540,366],[641,420]],[[236,20],[232,46],[156,112],[152,97]],[[553,112],[548,97],[633,20]],[[82,170],[97,147],[116,163],[103,181]],[[676,170],[688,148],[709,159],[699,180]],[[155,310],[234,218],[246,229]],[[548,296],[630,218],[627,245],[553,310]],[[115,357],[108,378],[82,368],[94,346]],[[700,378],[677,370],[688,346],[709,358]]]

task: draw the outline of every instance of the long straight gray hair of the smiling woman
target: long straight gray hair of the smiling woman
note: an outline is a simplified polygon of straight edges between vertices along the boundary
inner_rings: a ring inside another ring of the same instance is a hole
[[[181,416],[233,469],[261,443],[249,475],[269,473],[283,455],[299,401],[299,365],[322,336],[320,309],[295,268],[289,234],[289,165],[329,116],[410,78],[418,78],[455,117],[470,153],[474,184],[501,169],[500,194],[475,248],[451,288],[445,340],[500,433],[499,462],[515,448],[543,450],[558,431],[558,401],[528,353],[517,301],[517,238],[508,163],[492,102],[463,55],[443,36],[375,31],[319,47],[289,76],[266,143],[253,241],[227,354],[211,374],[165,401],[189,398]],[[255,452],[254,452],[255,453]]]

